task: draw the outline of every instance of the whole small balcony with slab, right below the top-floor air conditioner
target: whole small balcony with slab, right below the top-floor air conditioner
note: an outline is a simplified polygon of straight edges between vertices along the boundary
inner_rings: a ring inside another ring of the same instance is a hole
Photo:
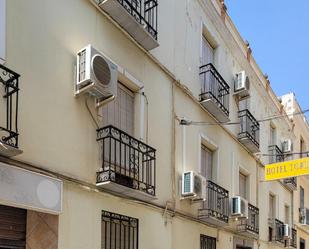
[[[246,146],[252,153],[260,151],[260,124],[249,110],[245,109],[238,112],[240,120],[240,132],[238,140]]]

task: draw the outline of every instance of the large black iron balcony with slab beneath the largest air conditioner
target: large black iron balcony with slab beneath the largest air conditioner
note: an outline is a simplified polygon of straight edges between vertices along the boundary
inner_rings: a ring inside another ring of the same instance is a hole
[[[141,200],[156,194],[156,150],[114,126],[97,130],[102,168],[96,185]]]

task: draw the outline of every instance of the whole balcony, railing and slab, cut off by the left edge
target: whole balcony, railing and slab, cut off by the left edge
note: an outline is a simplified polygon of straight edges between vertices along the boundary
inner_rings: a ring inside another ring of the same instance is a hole
[[[18,93],[20,75],[0,64],[0,155],[16,156],[22,153],[18,148]]]

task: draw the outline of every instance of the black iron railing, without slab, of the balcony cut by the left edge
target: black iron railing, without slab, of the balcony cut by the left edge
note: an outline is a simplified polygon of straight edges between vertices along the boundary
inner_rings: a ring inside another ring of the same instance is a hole
[[[18,148],[18,92],[20,75],[0,65],[0,83],[4,87],[5,116],[0,123],[0,141]]]

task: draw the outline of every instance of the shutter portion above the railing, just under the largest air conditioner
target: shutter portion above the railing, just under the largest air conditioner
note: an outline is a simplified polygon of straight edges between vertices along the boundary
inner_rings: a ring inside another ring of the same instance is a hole
[[[134,133],[134,93],[118,83],[117,97],[103,107],[104,126],[113,125],[133,136]]]

